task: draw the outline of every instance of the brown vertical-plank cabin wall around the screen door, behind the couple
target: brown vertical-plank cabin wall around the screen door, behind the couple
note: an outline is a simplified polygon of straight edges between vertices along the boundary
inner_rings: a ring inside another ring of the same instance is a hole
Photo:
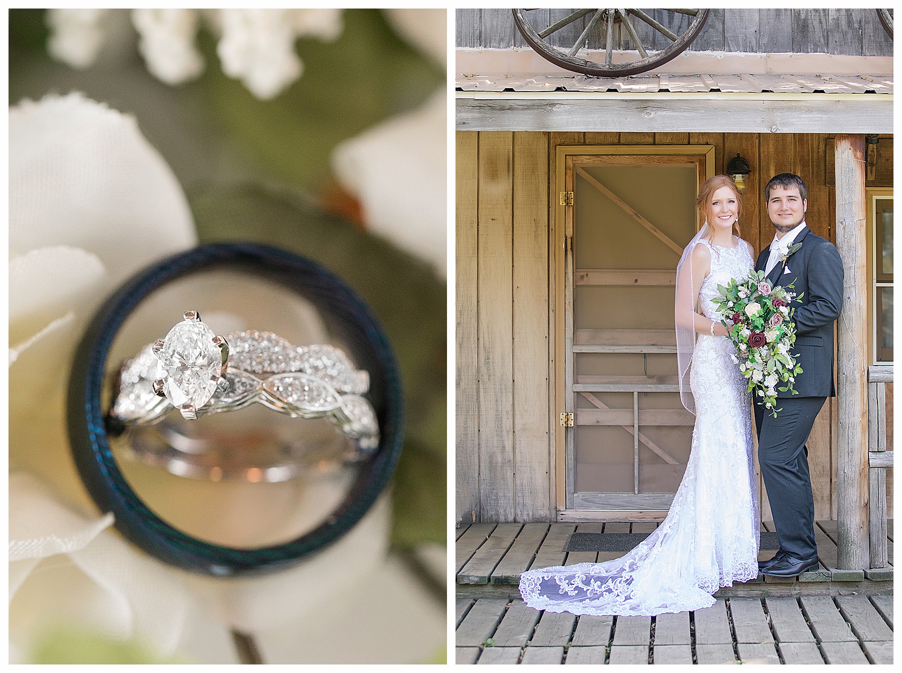
[[[556,517],[557,424],[549,404],[555,372],[555,278],[549,267],[554,161],[558,145],[582,144],[713,145],[716,173],[741,153],[753,172],[740,225],[756,255],[774,236],[763,187],[778,173],[796,173],[808,186],[806,222],[835,242],[831,136],[457,132],[457,521]],[[868,186],[892,186],[892,148],[892,137],[881,136],[876,179]],[[890,411],[889,436],[891,419]],[[836,518],[835,436],[833,399],[824,405],[808,441],[818,519]],[[891,516],[892,470],[887,491]],[[759,492],[762,517],[770,519],[760,477]]]

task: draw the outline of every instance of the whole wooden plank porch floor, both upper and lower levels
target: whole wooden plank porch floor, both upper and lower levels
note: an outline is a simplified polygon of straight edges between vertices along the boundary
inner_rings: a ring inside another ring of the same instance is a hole
[[[655,523],[474,523],[457,530],[459,664],[892,663],[892,568],[835,568],[835,522],[818,522],[821,568],[723,587],[716,605],[658,617],[546,613],[523,605],[529,568],[616,559],[567,552],[572,532],[651,532]],[[773,530],[768,523],[765,529]],[[892,563],[893,526],[888,522]],[[762,551],[762,558],[773,555]]]

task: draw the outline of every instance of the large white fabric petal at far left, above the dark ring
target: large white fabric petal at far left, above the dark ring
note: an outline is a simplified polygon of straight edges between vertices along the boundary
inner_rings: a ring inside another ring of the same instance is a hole
[[[133,117],[73,93],[23,101],[9,124],[11,250],[87,250],[117,286],[196,244],[188,201]]]

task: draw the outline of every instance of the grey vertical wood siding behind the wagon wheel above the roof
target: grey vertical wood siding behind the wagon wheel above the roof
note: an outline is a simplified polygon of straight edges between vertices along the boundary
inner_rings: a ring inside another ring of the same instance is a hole
[[[545,26],[573,11],[536,10],[529,17],[536,25]],[[646,11],[677,34],[689,23],[686,16],[657,9]],[[509,9],[458,9],[456,18],[458,47],[526,47]],[[556,32],[552,44],[571,46],[591,18],[591,14],[584,16]],[[638,20],[633,24],[647,47],[658,50],[669,44],[648,24]],[[621,49],[632,49],[625,31],[616,34]],[[600,39],[589,43],[592,49],[601,46]],[[689,50],[892,56],[893,41],[873,9],[712,9]]]

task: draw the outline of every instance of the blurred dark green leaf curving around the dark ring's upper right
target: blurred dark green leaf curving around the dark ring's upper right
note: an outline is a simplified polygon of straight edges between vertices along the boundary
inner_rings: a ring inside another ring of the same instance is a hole
[[[254,241],[333,271],[382,322],[406,400],[404,450],[392,488],[392,542],[446,541],[446,289],[425,262],[288,190],[262,186],[189,191],[201,243]]]

